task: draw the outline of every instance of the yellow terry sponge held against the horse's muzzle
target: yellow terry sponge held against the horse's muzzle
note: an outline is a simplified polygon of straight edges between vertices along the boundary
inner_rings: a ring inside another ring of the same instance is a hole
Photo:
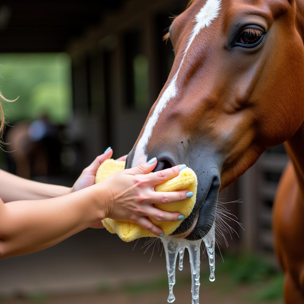
[[[96,172],[95,182],[98,183],[108,176],[123,170],[124,166],[124,161],[115,161],[113,159],[104,161]],[[181,170],[178,176],[165,181],[162,184],[156,185],[154,187],[154,190],[161,192],[189,190],[193,192],[192,198],[185,201],[173,202],[169,204],[154,204],[154,206],[163,211],[180,212],[185,216],[185,218],[187,218],[190,215],[195,204],[196,188],[196,174],[192,169],[185,168]],[[155,219],[149,219],[164,231],[165,236],[173,233],[183,221],[179,220],[176,222],[158,222]],[[102,220],[102,223],[109,232],[117,233],[118,236],[125,242],[130,242],[140,237],[155,237],[153,233],[145,230],[136,223],[120,222],[114,219],[104,219]]]

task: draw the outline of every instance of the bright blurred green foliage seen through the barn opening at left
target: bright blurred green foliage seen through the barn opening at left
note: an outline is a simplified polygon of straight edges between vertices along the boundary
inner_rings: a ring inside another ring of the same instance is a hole
[[[47,115],[53,123],[71,116],[71,62],[59,54],[0,54],[0,85],[6,120],[33,120]]]

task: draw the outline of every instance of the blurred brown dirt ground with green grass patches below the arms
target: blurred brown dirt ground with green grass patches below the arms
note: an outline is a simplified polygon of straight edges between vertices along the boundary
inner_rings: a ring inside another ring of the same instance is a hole
[[[158,246],[143,254],[117,236],[91,230],[47,250],[0,261],[0,304],[165,304],[168,278]],[[97,240],[103,240],[98,242]],[[161,246],[160,246],[161,249]],[[264,256],[216,251],[216,281],[202,256],[200,302],[282,304],[282,274]],[[274,258],[273,258],[274,260]],[[189,257],[176,274],[176,304],[191,303]]]

